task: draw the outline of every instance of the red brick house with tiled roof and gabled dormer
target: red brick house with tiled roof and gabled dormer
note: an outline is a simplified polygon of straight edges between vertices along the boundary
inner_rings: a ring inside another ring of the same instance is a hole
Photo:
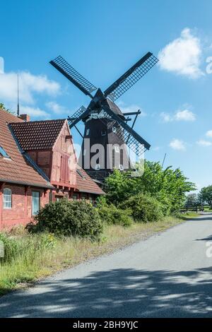
[[[28,120],[0,109],[0,229],[27,224],[49,201],[104,194],[77,167],[66,119]]]

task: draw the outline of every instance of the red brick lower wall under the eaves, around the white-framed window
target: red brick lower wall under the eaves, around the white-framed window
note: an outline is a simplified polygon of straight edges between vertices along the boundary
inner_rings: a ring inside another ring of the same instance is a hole
[[[12,191],[12,208],[4,209],[4,188]],[[15,184],[4,184],[0,190],[0,229],[13,225],[26,225],[32,219],[32,191],[40,191],[40,205],[49,202],[49,191],[40,188],[30,188]]]

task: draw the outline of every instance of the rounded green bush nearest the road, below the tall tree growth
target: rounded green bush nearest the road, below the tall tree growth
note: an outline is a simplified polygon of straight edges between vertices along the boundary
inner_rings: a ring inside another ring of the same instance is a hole
[[[143,194],[131,196],[119,205],[122,209],[131,209],[136,222],[151,223],[163,218],[163,206],[155,198]]]

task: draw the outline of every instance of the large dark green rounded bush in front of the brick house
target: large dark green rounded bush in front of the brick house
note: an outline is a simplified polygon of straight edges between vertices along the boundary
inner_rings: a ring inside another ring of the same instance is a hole
[[[87,201],[61,199],[49,203],[35,217],[33,232],[47,231],[58,235],[73,235],[99,239],[102,222],[98,209]]]

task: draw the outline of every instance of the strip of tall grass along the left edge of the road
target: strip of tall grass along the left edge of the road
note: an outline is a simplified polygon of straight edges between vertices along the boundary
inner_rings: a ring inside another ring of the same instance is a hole
[[[167,217],[157,223],[134,223],[130,227],[108,225],[100,242],[76,237],[54,238],[53,235],[43,235],[42,239],[41,235],[16,235],[13,238],[18,242],[15,258],[0,263],[0,295],[182,222],[182,218]]]

